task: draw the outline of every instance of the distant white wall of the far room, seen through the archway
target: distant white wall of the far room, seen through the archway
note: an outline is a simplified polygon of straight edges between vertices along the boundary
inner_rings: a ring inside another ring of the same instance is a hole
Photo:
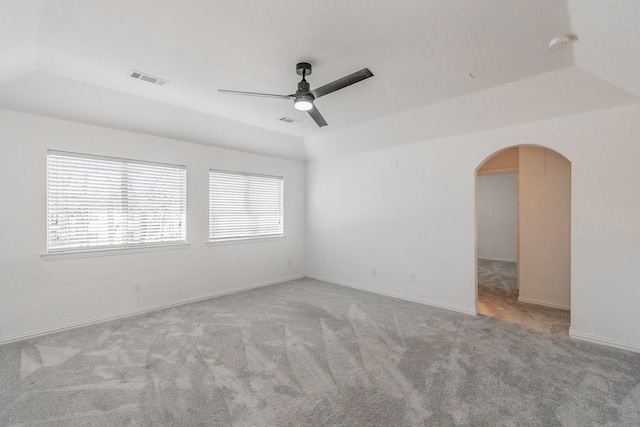
[[[476,181],[478,258],[518,261],[518,175],[480,175]]]

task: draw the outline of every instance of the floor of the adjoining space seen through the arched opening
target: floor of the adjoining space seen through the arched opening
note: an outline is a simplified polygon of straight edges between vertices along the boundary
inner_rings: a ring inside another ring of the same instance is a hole
[[[536,330],[569,333],[569,311],[518,302],[515,262],[478,259],[478,312]]]

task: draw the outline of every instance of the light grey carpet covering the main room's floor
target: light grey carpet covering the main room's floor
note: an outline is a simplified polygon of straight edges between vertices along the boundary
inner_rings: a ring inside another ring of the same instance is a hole
[[[0,424],[640,424],[640,354],[310,279],[0,347]]]

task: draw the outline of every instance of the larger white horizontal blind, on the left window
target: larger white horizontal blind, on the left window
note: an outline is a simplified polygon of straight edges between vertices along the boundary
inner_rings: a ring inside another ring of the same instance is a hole
[[[186,242],[184,166],[49,151],[49,252]]]

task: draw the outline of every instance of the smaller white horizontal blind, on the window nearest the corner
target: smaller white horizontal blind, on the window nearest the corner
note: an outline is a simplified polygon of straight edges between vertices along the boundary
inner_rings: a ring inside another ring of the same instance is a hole
[[[209,240],[282,236],[279,176],[209,171]]]

